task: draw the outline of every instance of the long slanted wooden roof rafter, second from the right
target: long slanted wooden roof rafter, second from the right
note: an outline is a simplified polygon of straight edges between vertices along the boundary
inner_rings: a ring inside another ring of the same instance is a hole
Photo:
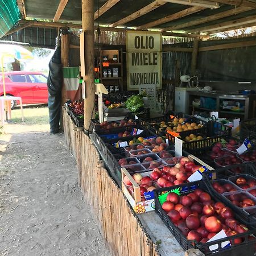
[[[195,25],[198,25],[198,24],[203,24],[205,22],[210,22],[210,21],[216,20],[216,19],[222,19],[222,18],[225,18],[227,16],[243,13],[243,12],[249,11],[249,10],[251,10],[251,7],[243,7],[242,6],[242,7],[234,8],[232,10],[222,11],[222,13],[213,14],[213,15],[207,16],[205,18],[192,20],[191,22],[185,22],[185,23],[182,23],[182,24],[179,24],[179,25],[166,27],[166,28],[163,28],[162,31],[180,30],[180,28],[192,27],[192,26],[195,26]]]

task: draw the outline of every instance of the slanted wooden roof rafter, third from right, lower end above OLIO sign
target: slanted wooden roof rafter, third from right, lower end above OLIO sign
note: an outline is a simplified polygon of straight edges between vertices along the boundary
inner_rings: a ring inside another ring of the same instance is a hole
[[[198,6],[193,6],[193,7],[189,7],[188,9],[179,11],[178,13],[175,14],[171,14],[168,15],[162,19],[158,19],[155,20],[154,22],[150,22],[147,24],[144,24],[142,26],[137,27],[138,30],[144,29],[144,28],[151,28],[151,27],[155,27],[158,26],[160,24],[166,23],[166,22],[170,22],[171,20],[175,20],[175,19],[180,19],[184,16],[193,14],[193,13],[197,13],[198,11],[204,10],[204,7],[198,7]]]

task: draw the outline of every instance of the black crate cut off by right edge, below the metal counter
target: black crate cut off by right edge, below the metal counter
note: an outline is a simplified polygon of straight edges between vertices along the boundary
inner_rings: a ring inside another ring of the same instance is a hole
[[[246,138],[256,144],[256,118],[240,122],[240,139],[243,142]]]

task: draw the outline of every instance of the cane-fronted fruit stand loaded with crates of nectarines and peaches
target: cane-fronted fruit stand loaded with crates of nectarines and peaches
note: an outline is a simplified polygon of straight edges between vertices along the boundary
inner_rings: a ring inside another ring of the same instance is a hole
[[[242,142],[220,123],[162,118],[92,120],[88,137],[63,109],[82,192],[110,248],[117,255],[254,255],[255,151],[237,154]],[[175,136],[182,156],[175,156]]]

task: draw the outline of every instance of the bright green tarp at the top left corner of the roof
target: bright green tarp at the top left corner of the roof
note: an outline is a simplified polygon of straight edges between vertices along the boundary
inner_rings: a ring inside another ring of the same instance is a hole
[[[20,19],[16,0],[0,0],[0,38],[15,26]]]

